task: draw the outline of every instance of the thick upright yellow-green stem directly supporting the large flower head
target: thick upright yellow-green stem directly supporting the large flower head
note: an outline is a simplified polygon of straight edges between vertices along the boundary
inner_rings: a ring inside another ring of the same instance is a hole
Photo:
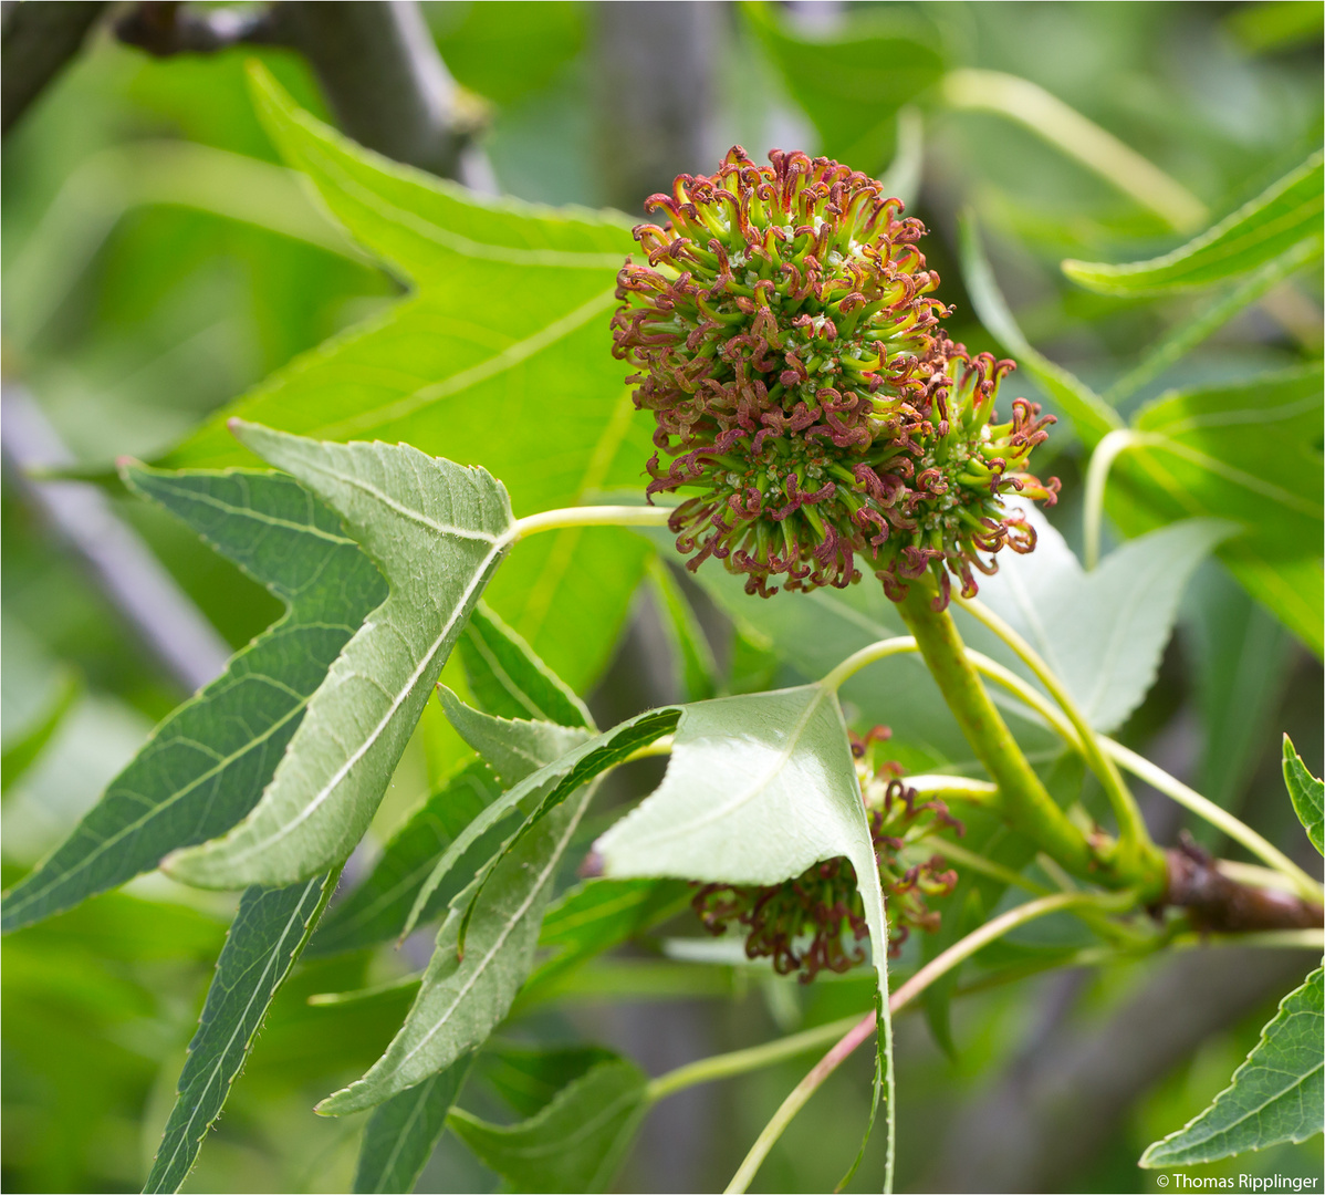
[[[946,609],[935,611],[930,596],[913,584],[906,599],[898,603],[898,609],[916,636],[947,707],[977,758],[998,784],[999,811],[1073,874],[1094,878],[1097,862],[1084,836],[1035,775],[980,684],[953,616]],[[1129,877],[1129,882],[1134,880]]]

